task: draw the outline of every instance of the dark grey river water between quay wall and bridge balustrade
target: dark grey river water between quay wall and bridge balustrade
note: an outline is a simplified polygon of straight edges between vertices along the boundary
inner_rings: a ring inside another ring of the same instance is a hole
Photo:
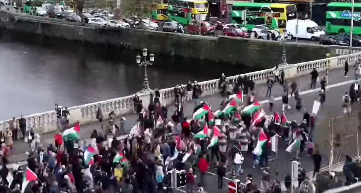
[[[0,34],[0,120],[52,110],[55,103],[70,107],[131,95],[142,87],[136,52],[21,37]],[[255,70],[156,55],[147,72],[151,88],[162,89]]]

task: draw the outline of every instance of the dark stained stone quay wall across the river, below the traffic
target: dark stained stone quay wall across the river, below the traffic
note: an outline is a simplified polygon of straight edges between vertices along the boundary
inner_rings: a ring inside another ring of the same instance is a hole
[[[78,42],[95,46],[114,46],[141,50],[144,47],[155,54],[171,55],[197,60],[223,62],[239,66],[266,69],[281,62],[282,41],[245,39],[239,37],[209,37],[137,30],[66,22],[63,19],[36,17],[0,10],[0,28]],[[35,36],[34,36],[35,37]],[[325,58],[335,53],[330,46],[286,42],[288,63],[295,64]],[[352,51],[352,50],[351,50]]]

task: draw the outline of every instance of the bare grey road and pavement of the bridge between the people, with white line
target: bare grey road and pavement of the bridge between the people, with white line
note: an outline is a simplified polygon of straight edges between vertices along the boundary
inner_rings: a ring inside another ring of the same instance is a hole
[[[350,70],[351,72],[353,72],[353,70]],[[324,73],[320,73],[320,76],[323,76]],[[349,85],[351,84],[353,79],[353,75],[351,75],[351,73],[349,73],[349,77],[344,77],[343,76],[343,69],[335,69],[332,70],[329,74],[329,85],[330,88],[327,90],[326,92],[326,103],[320,108],[320,111],[318,113],[318,122],[321,123],[322,120],[328,119],[330,118],[330,112],[332,112],[332,117],[335,116],[341,116],[343,115],[342,112],[342,106],[341,106],[341,99],[342,99],[342,95],[349,90]],[[292,80],[290,80],[292,81]],[[296,111],[295,109],[295,101],[294,99],[290,99],[289,103],[291,105],[291,109],[288,110],[286,112],[286,116],[288,118],[288,120],[297,120],[297,122],[301,122],[302,117],[303,117],[303,113],[304,111],[308,111],[311,112],[312,111],[312,106],[313,106],[313,101],[314,99],[318,99],[318,90],[309,90],[310,87],[310,76],[301,76],[298,78],[295,78],[295,81],[297,82],[297,86],[299,87],[300,91],[301,91],[301,97],[303,98],[303,110],[302,111]],[[317,84],[317,86],[319,87],[319,84]],[[261,101],[261,103],[263,103],[264,105],[264,109],[265,111],[269,114],[269,113],[273,113],[273,112],[269,112],[268,110],[268,102],[269,100],[271,100],[270,98],[266,98],[265,97],[265,93],[266,93],[266,86],[265,84],[260,84],[260,85],[256,85],[256,89],[255,89],[255,94],[256,94],[256,100],[257,101]],[[274,96],[274,111],[277,112],[282,112],[281,111],[281,105],[282,105],[282,101],[280,100],[279,96],[283,93],[283,89],[282,86],[280,85],[275,85],[273,87],[272,90],[273,96]],[[220,95],[214,95],[214,96],[210,96],[210,97],[205,97],[202,98],[201,100],[208,102],[208,104],[211,105],[211,107],[213,107],[214,109],[216,109],[219,104],[222,102],[222,100],[225,100],[222,96]],[[187,102],[184,105],[184,113],[185,115],[187,115],[188,117],[190,117],[192,115],[192,111],[194,108],[194,102]],[[355,107],[355,108],[359,108],[359,107]],[[174,106],[169,107],[168,109],[168,117],[170,117],[174,112]],[[119,124],[119,118],[117,117],[117,124]],[[137,116],[135,115],[126,115],[126,127],[127,128],[131,128],[137,119]],[[107,125],[108,122],[107,121],[103,121],[104,125]],[[96,129],[98,131],[101,131],[101,125],[100,123],[93,123],[93,124],[89,124],[89,125],[82,125],[81,126],[81,137],[83,139],[87,139],[90,137],[90,134],[92,133],[92,131]],[[343,131],[342,127],[335,127],[335,133],[337,133],[338,131]],[[53,142],[53,136],[54,133],[49,133],[49,134],[44,134],[42,135],[42,143],[45,144],[49,144]],[[322,166],[327,166],[328,165],[328,150],[329,150],[329,145],[327,145],[327,143],[325,144],[325,142],[327,142],[329,140],[328,136],[329,136],[329,131],[327,128],[324,127],[318,127],[316,129],[316,139],[315,142],[316,143],[322,143],[322,145],[320,145],[320,151],[323,157],[323,161],[322,161]],[[344,159],[344,155],[349,154],[351,156],[356,156],[356,138],[355,135],[348,135],[345,136],[344,138],[345,142],[348,142],[348,145],[346,148],[341,149],[340,155],[340,161],[343,161]],[[270,167],[270,172],[272,175],[272,179],[278,178],[280,181],[283,180],[284,176],[287,175],[288,173],[290,173],[291,171],[291,155],[285,151],[286,149],[286,143],[285,141],[279,140],[279,145],[278,145],[278,159],[269,162],[269,167]],[[17,141],[15,143],[15,148],[13,150],[13,155],[10,157],[10,161],[11,162],[18,162],[18,161],[23,161],[26,160],[27,155],[25,154],[26,151],[29,151],[29,145],[25,142],[21,142],[21,141]],[[257,182],[257,185],[259,185],[259,182],[261,180],[262,174],[261,174],[261,169],[259,167],[257,167],[256,169],[252,168],[252,163],[253,163],[253,159],[252,159],[252,154],[251,153],[245,153],[245,161],[242,165],[243,169],[244,169],[244,175],[242,176],[238,176],[237,178],[240,179],[242,182],[245,182],[245,175],[246,174],[252,174],[253,175],[253,179],[255,182]],[[313,170],[313,162],[311,160],[310,157],[308,156],[303,156],[300,159],[301,164],[305,167],[306,171],[312,171]],[[338,162],[338,161],[334,161],[334,162]],[[229,170],[227,170],[227,172],[230,171],[230,166],[227,167]],[[275,172],[278,171],[278,176],[275,176]],[[214,169],[210,169],[209,173],[205,176],[205,181],[206,181],[206,187],[205,190],[209,193],[212,192],[218,192],[217,189],[217,176],[215,176],[214,174],[216,173],[216,171]],[[199,175],[198,175],[199,176]],[[227,189],[227,182],[228,182],[228,178],[230,178],[230,176],[226,176],[227,178],[224,179],[223,182],[223,189]],[[223,191],[222,191],[223,192]]]

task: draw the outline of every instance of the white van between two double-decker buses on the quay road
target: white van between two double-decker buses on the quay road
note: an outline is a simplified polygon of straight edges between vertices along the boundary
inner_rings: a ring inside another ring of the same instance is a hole
[[[297,22],[298,20],[298,22]],[[298,32],[296,33],[298,23]],[[311,39],[312,41],[319,40],[321,35],[325,34],[317,23],[309,19],[291,19],[287,21],[287,33],[291,33],[292,37],[299,37],[304,39]]]

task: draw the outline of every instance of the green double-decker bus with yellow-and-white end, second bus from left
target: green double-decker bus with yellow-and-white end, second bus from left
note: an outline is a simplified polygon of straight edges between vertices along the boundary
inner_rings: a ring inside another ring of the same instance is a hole
[[[169,0],[168,19],[187,25],[191,20],[208,20],[208,1]]]

